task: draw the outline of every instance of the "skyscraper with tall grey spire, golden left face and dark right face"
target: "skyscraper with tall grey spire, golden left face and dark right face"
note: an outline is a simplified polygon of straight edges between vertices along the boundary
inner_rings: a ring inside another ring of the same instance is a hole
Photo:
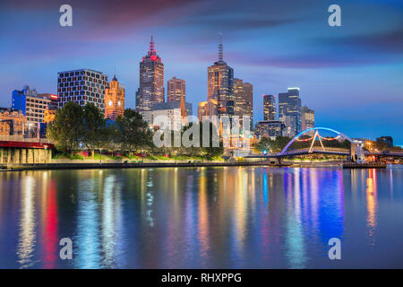
[[[219,61],[207,68],[207,98],[217,100],[219,116],[234,116],[234,70],[224,62],[222,53],[220,43]]]

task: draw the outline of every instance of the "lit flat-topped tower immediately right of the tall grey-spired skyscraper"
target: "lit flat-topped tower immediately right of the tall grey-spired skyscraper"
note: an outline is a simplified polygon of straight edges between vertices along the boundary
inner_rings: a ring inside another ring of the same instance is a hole
[[[244,83],[241,79],[234,79],[234,115],[239,117],[241,127],[243,117],[250,117],[253,127],[253,85]]]

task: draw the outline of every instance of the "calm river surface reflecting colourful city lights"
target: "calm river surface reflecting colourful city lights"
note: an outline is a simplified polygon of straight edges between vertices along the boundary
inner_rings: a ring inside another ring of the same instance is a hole
[[[0,172],[0,267],[401,268],[403,168]]]

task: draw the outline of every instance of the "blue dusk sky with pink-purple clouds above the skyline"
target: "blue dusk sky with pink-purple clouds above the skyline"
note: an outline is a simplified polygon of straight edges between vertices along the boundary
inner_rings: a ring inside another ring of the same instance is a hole
[[[59,7],[73,7],[73,27]],[[328,7],[341,7],[341,27]],[[262,94],[300,87],[315,126],[350,137],[391,135],[403,144],[403,1],[19,1],[1,0],[0,107],[24,84],[57,92],[57,72],[90,68],[116,76],[134,107],[139,62],[150,36],[165,65],[164,81],[186,81],[186,99],[207,99],[207,67],[224,60],[253,84],[253,113]]]

